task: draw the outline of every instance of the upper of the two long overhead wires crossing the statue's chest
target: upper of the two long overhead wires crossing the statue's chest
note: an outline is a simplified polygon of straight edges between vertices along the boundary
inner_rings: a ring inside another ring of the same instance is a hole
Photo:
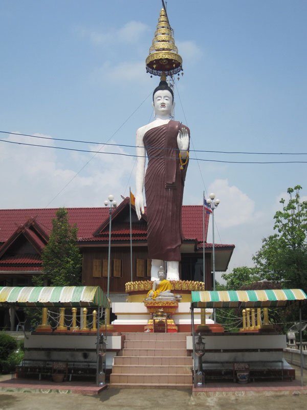
[[[178,95],[179,96],[179,95]],[[180,99],[180,96],[179,96]],[[132,115],[132,114],[131,114]],[[152,112],[149,118],[151,119]],[[185,117],[185,115],[184,115]],[[129,119],[128,117],[127,119]],[[127,120],[126,120],[127,121]],[[126,122],[125,121],[125,122]],[[187,122],[187,121],[186,121]],[[122,124],[122,126],[125,123]],[[122,128],[122,126],[120,128]],[[108,138],[107,141],[109,141],[113,136],[120,130],[120,128],[115,131],[115,133]],[[17,132],[9,132],[9,131],[0,131],[0,133],[3,134],[12,134],[12,135],[21,135],[24,137],[31,137],[31,138],[40,138],[40,139],[50,139],[54,141],[65,141],[65,142],[77,142],[78,144],[94,144],[94,145],[108,145],[112,147],[126,147],[126,148],[138,148],[136,145],[127,145],[127,144],[110,144],[108,142],[94,142],[94,141],[82,141],[78,139],[67,139],[67,138],[55,138],[55,137],[43,137],[40,135],[31,135],[31,134],[21,134]],[[145,147],[145,148],[157,148],[157,147]],[[164,148],[164,147],[159,147],[161,150],[173,150],[173,148]],[[176,151],[180,151],[178,148],[174,149]],[[244,154],[244,155],[307,155],[307,152],[244,152],[244,151],[213,151],[213,150],[189,150],[190,152],[206,152],[206,153],[212,153],[212,154]]]

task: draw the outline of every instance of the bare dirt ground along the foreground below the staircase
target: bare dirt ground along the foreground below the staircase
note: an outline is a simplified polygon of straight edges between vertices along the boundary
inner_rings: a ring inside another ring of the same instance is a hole
[[[300,369],[296,367],[300,379]],[[307,370],[304,370],[304,385]],[[307,395],[255,397],[192,397],[188,390],[171,389],[117,389],[108,388],[97,396],[77,394],[3,393],[0,392],[0,410],[92,410],[92,409],[146,409],[167,408],[185,410],[203,408],[214,410],[305,410]]]

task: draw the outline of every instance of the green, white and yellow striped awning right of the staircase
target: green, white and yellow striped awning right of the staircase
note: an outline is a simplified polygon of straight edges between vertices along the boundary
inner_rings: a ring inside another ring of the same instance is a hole
[[[193,308],[274,308],[296,301],[307,301],[301,289],[269,289],[261,291],[195,291]]]

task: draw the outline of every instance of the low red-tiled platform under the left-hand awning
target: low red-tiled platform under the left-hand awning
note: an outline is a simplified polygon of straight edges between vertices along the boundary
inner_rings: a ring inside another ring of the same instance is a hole
[[[10,377],[10,376],[7,376]],[[107,385],[97,387],[93,382],[70,381],[55,383],[50,380],[34,379],[13,379],[0,381],[0,392],[19,392],[19,393],[75,393],[96,395],[99,394]]]

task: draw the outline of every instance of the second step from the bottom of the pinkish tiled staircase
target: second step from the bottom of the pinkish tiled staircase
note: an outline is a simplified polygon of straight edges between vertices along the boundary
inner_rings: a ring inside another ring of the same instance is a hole
[[[130,365],[130,364],[113,364],[112,374],[192,374],[190,365]]]

